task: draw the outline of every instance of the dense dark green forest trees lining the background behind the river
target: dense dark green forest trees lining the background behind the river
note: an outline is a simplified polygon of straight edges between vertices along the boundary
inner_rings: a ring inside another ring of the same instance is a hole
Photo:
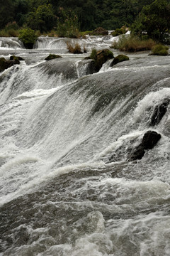
[[[138,36],[145,31],[163,41],[170,27],[170,0],[0,0],[0,6],[0,29],[15,21],[40,33],[54,29],[77,37],[98,26],[132,26]]]

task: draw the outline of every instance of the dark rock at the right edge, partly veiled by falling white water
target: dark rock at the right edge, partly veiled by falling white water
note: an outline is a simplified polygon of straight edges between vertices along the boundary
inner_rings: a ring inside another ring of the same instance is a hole
[[[170,103],[170,100],[169,99],[165,99],[163,103],[157,105],[154,108],[154,113],[152,114],[151,122],[150,122],[151,126],[159,124],[159,122],[161,121],[162,117],[164,117],[164,114],[167,111],[169,103]]]

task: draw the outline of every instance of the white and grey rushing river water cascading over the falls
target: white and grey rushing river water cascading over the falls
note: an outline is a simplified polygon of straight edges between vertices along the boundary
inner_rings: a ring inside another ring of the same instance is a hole
[[[0,73],[0,255],[169,256],[169,107],[150,122],[170,99],[170,58],[130,54],[91,75],[66,41],[0,38],[1,56],[25,59]],[[148,130],[162,138],[129,161]]]

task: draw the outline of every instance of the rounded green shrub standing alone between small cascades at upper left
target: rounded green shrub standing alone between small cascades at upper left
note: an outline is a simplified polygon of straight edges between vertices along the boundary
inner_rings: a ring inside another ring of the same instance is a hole
[[[23,42],[26,48],[33,48],[33,45],[37,38],[38,36],[36,36],[35,31],[33,31],[33,29],[25,28],[20,31],[19,39]]]

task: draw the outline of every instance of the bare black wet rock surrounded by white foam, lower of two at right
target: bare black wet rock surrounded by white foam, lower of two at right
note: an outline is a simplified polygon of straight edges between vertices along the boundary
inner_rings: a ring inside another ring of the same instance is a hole
[[[137,160],[142,159],[145,155],[145,150],[153,149],[153,147],[157,144],[157,142],[161,139],[161,134],[158,134],[154,131],[148,131],[144,134],[142,142],[135,149],[132,149],[129,155],[129,160]]]

